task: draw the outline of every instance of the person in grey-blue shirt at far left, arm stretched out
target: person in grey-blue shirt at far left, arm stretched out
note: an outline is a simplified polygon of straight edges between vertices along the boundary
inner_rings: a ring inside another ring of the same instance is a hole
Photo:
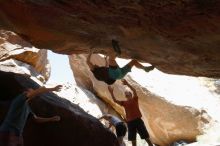
[[[40,94],[50,91],[59,91],[61,85],[53,88],[40,87],[38,89],[28,88],[26,91],[15,97],[0,126],[0,146],[23,146],[22,132],[29,114],[36,122],[60,121],[60,116],[42,118],[34,114],[29,106],[30,102]]]

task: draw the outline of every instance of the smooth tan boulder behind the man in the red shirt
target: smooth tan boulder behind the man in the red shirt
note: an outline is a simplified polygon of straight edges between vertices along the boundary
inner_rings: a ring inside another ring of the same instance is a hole
[[[116,105],[110,98],[107,85],[97,81],[86,67],[85,55],[71,55],[70,62],[78,84],[84,87],[93,85],[95,92],[106,102],[112,105],[121,115],[124,116],[123,108]],[[75,62],[77,58],[77,63]],[[98,55],[92,56],[92,61],[97,65],[104,65],[104,59]],[[137,90],[140,109],[143,119],[150,132],[151,139],[162,146],[171,144],[178,140],[195,141],[197,135],[202,132],[204,124],[209,122],[206,113],[200,112],[191,107],[177,106],[167,102],[164,98],[151,94],[146,88],[140,87],[137,83],[128,78],[133,87]],[[90,87],[91,88],[91,87]],[[125,100],[121,90],[123,86],[120,81],[114,84],[114,93],[119,100]]]

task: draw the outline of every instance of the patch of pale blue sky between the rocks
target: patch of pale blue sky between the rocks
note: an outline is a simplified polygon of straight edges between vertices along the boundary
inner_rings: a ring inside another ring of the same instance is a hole
[[[67,55],[48,51],[48,59],[51,65],[51,75],[47,83],[75,83]]]

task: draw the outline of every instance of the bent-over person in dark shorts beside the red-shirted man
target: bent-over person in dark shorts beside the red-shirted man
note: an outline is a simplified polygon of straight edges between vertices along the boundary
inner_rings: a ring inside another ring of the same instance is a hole
[[[115,127],[119,145],[125,146],[123,138],[127,132],[127,129],[126,129],[124,122],[122,120],[120,120],[118,117],[110,115],[110,114],[105,114],[99,118],[99,120],[102,120],[102,119],[105,119],[109,122],[108,129],[110,129],[112,126]]]

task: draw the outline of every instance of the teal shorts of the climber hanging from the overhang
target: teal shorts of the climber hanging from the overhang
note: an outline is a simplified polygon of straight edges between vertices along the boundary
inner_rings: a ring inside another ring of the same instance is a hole
[[[112,67],[109,66],[109,77],[114,80],[123,79],[124,76],[131,71],[131,67],[129,65],[125,65],[124,67]]]

